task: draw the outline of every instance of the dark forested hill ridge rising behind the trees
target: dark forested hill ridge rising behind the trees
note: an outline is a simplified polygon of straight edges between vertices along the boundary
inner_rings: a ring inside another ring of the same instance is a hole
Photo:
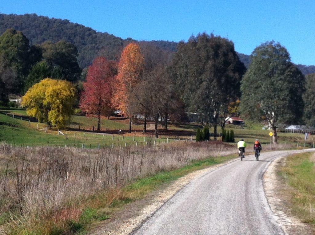
[[[31,44],[40,44],[47,40],[72,42],[78,49],[78,62],[81,68],[89,66],[97,55],[105,55],[108,59],[118,59],[122,49],[132,38],[122,39],[108,33],[97,32],[90,27],[71,23],[69,20],[38,16],[37,14],[0,14],[0,35],[8,28],[22,31]],[[177,42],[150,41],[158,47],[176,51]],[[246,67],[250,64],[249,55],[238,53]],[[315,72],[315,66],[297,65],[303,74]]]

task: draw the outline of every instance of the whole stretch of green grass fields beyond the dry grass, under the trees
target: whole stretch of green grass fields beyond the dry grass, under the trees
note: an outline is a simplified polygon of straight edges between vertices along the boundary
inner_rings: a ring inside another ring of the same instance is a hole
[[[113,117],[112,120],[108,120],[107,118],[102,119],[101,131],[96,133],[96,131],[92,131],[93,126],[96,130],[96,118],[74,115],[68,128],[61,130],[65,135],[58,135],[58,130],[56,129],[49,129],[48,133],[45,133],[45,123],[38,123],[36,121],[29,122],[29,117],[23,109],[2,109],[0,111],[10,115],[6,116],[0,114],[0,122],[6,123],[6,125],[0,125],[0,141],[5,141],[6,143],[15,144],[17,146],[67,145],[82,147],[82,144],[84,144],[86,148],[96,148],[98,144],[100,144],[100,147],[105,147],[112,144],[136,144],[136,142],[140,145],[147,144],[146,142],[149,144],[154,143],[153,130],[147,130],[146,135],[143,135],[143,125],[141,123],[132,126],[132,133],[126,133],[129,127],[128,119],[113,119]],[[13,114],[15,115],[14,119],[12,118]],[[19,119],[20,117],[22,117],[22,120]],[[152,126],[152,123],[148,122],[147,129],[150,129],[150,126]],[[202,126],[196,123],[169,124],[169,131],[165,131],[163,127],[161,128],[161,125],[159,125],[159,131],[161,133],[159,138],[156,139],[156,142],[171,142],[178,140],[178,138],[186,140],[190,138],[195,139],[195,132],[198,127]],[[263,148],[268,149],[270,148],[271,141],[271,137],[268,135],[270,130],[262,130],[262,127],[263,124],[246,121],[244,126],[226,125],[226,130],[233,130],[235,140],[238,141],[240,138],[244,138],[248,145],[253,144],[255,139],[258,138]],[[123,130],[124,135],[118,135],[119,129]],[[213,132],[213,127],[210,127],[210,132]],[[221,127],[218,127],[218,132],[221,132]],[[167,138],[169,138],[169,140]],[[313,147],[314,142],[315,135],[310,135],[306,141],[306,147]],[[304,145],[304,134],[280,132],[278,133],[278,143],[287,143],[301,147]]]

